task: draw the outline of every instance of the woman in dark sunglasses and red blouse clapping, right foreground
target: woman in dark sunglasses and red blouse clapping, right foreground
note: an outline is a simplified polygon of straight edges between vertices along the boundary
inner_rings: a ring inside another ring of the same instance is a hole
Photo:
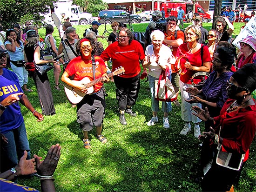
[[[215,153],[212,167],[202,180],[202,191],[229,191],[238,182],[256,133],[256,103],[251,98],[256,87],[256,63],[246,64],[233,73],[227,86],[229,99],[219,116],[211,118],[207,107],[205,110],[193,107],[195,116],[203,121],[213,121],[215,125],[209,132],[202,132],[199,138],[209,137],[218,145],[219,153],[230,153],[227,159],[222,156],[224,163],[218,161],[218,164],[218,151]]]

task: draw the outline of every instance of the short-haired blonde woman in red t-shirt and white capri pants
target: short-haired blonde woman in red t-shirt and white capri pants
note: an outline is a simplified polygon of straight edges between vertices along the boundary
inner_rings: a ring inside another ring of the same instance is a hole
[[[190,25],[185,30],[187,43],[178,47],[176,56],[184,56],[181,62],[182,73],[180,77],[180,90],[182,95],[182,120],[186,122],[186,125],[180,132],[182,135],[186,135],[190,130],[190,121],[195,123],[194,136],[197,138],[200,135],[200,119],[196,118],[191,113],[191,106],[200,106],[200,103],[190,104],[185,100],[192,99],[190,93],[185,90],[189,87],[193,87],[191,78],[196,72],[210,71],[210,53],[207,46],[204,46],[197,41],[201,38],[201,30],[198,26]],[[194,82],[199,82],[201,79],[194,79]]]

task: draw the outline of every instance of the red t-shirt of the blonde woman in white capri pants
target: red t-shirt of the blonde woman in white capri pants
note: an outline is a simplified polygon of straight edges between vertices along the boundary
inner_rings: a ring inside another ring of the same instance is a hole
[[[201,47],[202,46],[203,45],[201,44]],[[195,53],[189,54],[188,53],[189,52],[188,43],[184,43],[178,47],[176,56],[177,57],[179,57],[181,55],[186,56],[186,58],[182,58],[180,60],[182,72],[185,69],[184,64],[185,64],[186,60],[188,60],[192,66],[202,66],[202,63],[211,61],[211,55],[209,53],[208,47],[203,46],[202,49],[203,49],[203,52],[202,52],[203,54],[202,54],[202,59],[201,59],[201,49],[199,49]],[[203,60],[203,62],[202,62],[202,60]],[[185,74],[181,75],[180,79],[183,83],[192,84],[190,80],[195,73],[197,73],[197,72],[188,69],[188,71]],[[202,81],[201,78],[202,77],[195,78],[194,83],[197,84],[198,82]]]

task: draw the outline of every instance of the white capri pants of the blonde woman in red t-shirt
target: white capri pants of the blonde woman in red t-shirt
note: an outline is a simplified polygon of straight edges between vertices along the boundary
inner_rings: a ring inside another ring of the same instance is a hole
[[[192,97],[190,97],[190,93],[186,92],[185,90],[186,88],[193,87],[193,86],[191,84],[183,83],[181,80],[179,84],[180,84],[180,91],[182,95],[182,120],[186,122],[192,121],[193,123],[201,122],[202,121],[201,119],[199,119],[198,117],[192,114],[192,109],[191,109],[192,106],[198,106],[202,108],[201,103],[190,104],[185,101],[185,99],[187,100],[192,99]]]

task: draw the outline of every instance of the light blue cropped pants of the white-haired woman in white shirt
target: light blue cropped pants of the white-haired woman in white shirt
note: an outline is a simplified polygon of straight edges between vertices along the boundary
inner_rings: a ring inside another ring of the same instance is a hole
[[[155,80],[159,78],[155,78],[151,75],[148,75],[149,89],[150,89],[150,98],[151,98],[151,109],[153,112],[159,111],[159,101],[155,99]],[[171,102],[162,101],[162,112],[169,113],[172,110]]]

